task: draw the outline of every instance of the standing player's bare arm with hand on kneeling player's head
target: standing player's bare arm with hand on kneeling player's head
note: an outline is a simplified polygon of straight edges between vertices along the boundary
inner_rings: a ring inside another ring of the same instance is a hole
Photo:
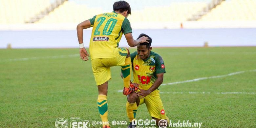
[[[142,36],[138,40],[135,40],[135,39],[133,39],[132,33],[126,33],[124,36],[125,36],[126,41],[130,47],[135,47],[135,46],[139,45],[140,43],[144,43],[144,42],[148,43],[147,40],[149,40],[148,37],[145,37],[145,36]]]

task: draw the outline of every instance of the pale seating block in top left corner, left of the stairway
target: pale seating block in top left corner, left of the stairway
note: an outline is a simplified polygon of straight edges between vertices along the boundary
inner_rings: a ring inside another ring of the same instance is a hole
[[[24,24],[50,4],[50,0],[0,0],[0,24]]]

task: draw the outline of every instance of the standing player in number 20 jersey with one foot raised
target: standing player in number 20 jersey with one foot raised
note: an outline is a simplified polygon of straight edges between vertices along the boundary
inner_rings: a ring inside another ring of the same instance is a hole
[[[130,5],[127,2],[115,2],[113,10],[113,12],[99,14],[89,20],[85,20],[78,24],[76,28],[80,57],[87,61],[89,53],[87,53],[83,45],[83,29],[93,27],[89,51],[91,54],[93,74],[98,87],[99,95],[97,104],[103,122],[103,128],[109,128],[107,89],[108,80],[111,79],[110,67],[121,66],[124,77],[124,95],[128,95],[138,89],[130,85],[132,67],[129,50],[118,48],[122,34],[125,35],[130,47],[137,46],[148,40],[145,36],[137,40],[133,39],[132,28],[129,20],[126,18],[131,14]]]

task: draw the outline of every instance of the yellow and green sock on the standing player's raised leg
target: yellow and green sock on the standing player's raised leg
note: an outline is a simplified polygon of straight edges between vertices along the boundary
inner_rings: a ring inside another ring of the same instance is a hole
[[[129,88],[130,87],[131,74],[132,74],[131,57],[125,58],[124,66],[121,66],[121,71],[122,71],[122,74],[123,74],[123,86],[125,88]]]

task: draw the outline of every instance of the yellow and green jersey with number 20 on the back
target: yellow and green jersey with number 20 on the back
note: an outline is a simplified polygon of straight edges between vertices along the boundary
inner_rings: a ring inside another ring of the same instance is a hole
[[[91,59],[116,57],[122,34],[132,32],[129,20],[114,11],[96,15],[89,20],[93,27],[89,47]]]

